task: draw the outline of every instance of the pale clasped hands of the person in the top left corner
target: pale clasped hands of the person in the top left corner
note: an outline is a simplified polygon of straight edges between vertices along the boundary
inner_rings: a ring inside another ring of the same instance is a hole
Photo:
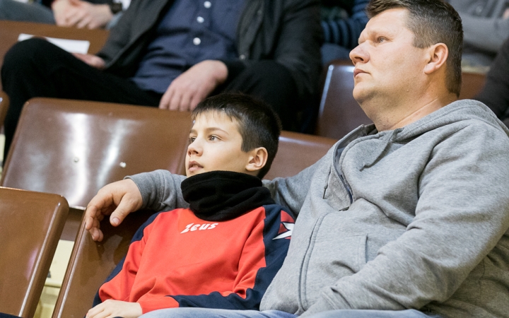
[[[55,22],[76,28],[103,28],[113,18],[107,4],[90,4],[81,0],[56,0],[52,4]]]

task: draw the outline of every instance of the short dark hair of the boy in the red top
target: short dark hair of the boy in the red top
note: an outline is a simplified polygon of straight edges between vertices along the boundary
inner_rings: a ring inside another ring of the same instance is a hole
[[[281,134],[281,122],[276,112],[262,100],[250,95],[222,93],[200,102],[191,114],[192,120],[211,111],[223,112],[238,122],[242,151],[251,151],[257,147],[267,149],[267,163],[257,176],[261,179],[267,175],[276,156]]]

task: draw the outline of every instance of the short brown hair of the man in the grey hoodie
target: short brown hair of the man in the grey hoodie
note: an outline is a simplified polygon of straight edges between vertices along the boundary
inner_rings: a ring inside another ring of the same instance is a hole
[[[463,49],[460,15],[443,0],[371,0],[366,11],[373,18],[391,8],[406,8],[409,11],[406,25],[414,33],[414,47],[423,49],[437,43],[447,45],[447,90],[460,96]]]

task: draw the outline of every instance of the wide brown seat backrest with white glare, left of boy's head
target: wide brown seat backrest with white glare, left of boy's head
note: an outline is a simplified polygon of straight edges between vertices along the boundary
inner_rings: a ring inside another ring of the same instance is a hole
[[[189,112],[35,98],[23,107],[1,185],[61,194],[83,207],[126,175],[183,174],[191,124]]]

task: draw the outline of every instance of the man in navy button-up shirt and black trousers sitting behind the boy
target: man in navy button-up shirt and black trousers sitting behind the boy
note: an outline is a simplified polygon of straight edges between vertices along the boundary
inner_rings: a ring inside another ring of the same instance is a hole
[[[132,1],[96,56],[40,39],[7,52],[5,153],[33,97],[192,110],[235,90],[268,102],[292,129],[317,93],[321,40],[317,0]]]

